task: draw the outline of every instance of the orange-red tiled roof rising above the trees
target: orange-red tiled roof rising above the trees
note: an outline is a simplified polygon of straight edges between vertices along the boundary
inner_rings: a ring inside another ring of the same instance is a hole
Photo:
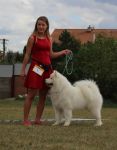
[[[117,39],[117,29],[55,29],[51,34],[53,41],[59,43],[59,36],[61,33],[67,30],[72,36],[75,37],[76,40],[80,40],[81,43],[86,43],[88,41],[92,41],[93,35],[95,36],[102,34],[109,37],[114,37]]]

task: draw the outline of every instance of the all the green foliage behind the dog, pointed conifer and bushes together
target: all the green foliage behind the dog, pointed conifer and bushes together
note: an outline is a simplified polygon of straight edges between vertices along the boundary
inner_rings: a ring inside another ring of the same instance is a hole
[[[60,35],[60,44],[54,43],[53,49],[71,49],[74,54],[74,70],[67,76],[71,82],[93,79],[99,85],[106,99],[117,102],[117,40],[98,35],[95,43],[81,45],[67,30]],[[54,66],[62,73],[65,58],[54,61]]]

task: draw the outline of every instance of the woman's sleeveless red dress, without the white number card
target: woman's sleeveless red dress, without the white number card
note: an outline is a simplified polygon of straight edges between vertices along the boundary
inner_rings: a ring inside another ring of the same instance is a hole
[[[46,89],[45,79],[53,72],[50,60],[50,40],[48,38],[39,39],[34,37],[34,46],[31,51],[31,65],[29,67],[24,86],[33,89]],[[40,66],[44,69],[40,76],[33,71],[34,66]]]

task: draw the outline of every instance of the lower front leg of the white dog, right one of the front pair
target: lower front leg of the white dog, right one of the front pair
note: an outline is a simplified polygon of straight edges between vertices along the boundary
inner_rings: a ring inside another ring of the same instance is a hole
[[[65,123],[64,126],[69,126],[72,119],[72,110],[71,109],[65,109],[64,110],[64,117],[65,117]]]

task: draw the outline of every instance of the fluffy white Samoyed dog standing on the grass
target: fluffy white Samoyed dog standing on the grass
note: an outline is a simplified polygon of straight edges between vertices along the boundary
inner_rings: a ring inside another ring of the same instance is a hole
[[[96,119],[96,126],[101,126],[101,109],[103,98],[94,81],[82,80],[73,85],[65,76],[54,71],[46,84],[50,86],[49,96],[55,111],[56,122],[59,125],[65,119],[64,126],[69,126],[73,109],[87,108]]]

